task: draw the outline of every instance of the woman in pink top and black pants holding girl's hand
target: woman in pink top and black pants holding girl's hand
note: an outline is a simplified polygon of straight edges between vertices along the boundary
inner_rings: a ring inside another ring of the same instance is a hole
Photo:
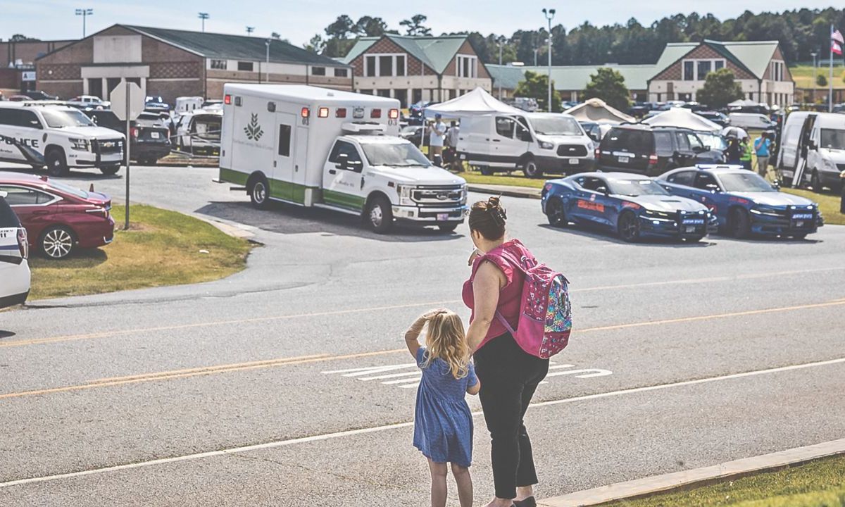
[[[548,373],[548,359],[524,352],[500,320],[516,327],[525,281],[506,257],[534,259],[518,240],[505,240],[506,219],[497,197],[472,205],[469,226],[476,249],[462,294],[472,308],[466,340],[474,351],[479,399],[491,439],[495,498],[487,506],[534,507],[537,471],[523,417]]]

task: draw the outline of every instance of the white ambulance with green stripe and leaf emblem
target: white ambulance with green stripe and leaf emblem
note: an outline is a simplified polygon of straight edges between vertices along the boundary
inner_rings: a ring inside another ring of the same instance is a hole
[[[399,133],[399,101],[302,85],[224,90],[220,179],[270,199],[361,215],[375,232],[394,221],[454,231],[466,181]]]

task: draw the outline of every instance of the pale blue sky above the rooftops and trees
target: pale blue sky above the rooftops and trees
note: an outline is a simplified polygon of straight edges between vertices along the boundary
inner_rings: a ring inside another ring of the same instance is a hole
[[[804,0],[800,7],[826,8],[829,2]],[[245,33],[246,26],[255,27],[255,35],[278,32],[294,44],[303,44],[315,33],[322,33],[338,14],[353,19],[369,14],[384,18],[390,28],[399,28],[401,19],[412,14],[426,14],[428,26],[435,34],[459,30],[477,30],[484,34],[530,30],[545,25],[541,9],[556,8],[554,24],[570,28],[589,20],[593,25],[625,23],[634,17],[643,25],[678,12],[693,10],[700,14],[711,12],[719,19],[741,14],[748,9],[781,11],[796,8],[785,0],[738,3],[731,0],[710,0],[706,3],[677,2],[676,0],[604,0],[603,2],[555,3],[548,0],[425,0],[396,2],[394,0],[5,0],[0,15],[0,38],[23,33],[43,40],[75,38],[82,35],[82,19],[74,16],[74,8],[93,8],[88,18],[88,33],[102,30],[115,23],[161,26],[184,30],[199,30],[197,13],[210,14],[206,31]]]

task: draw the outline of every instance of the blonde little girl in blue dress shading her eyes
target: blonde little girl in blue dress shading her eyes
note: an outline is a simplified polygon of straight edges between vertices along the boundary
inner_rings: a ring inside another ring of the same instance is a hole
[[[418,338],[425,325],[427,347]],[[465,393],[476,395],[481,384],[470,363],[461,318],[448,310],[419,317],[405,334],[405,343],[423,369],[417,390],[414,447],[428,458],[432,507],[446,504],[446,462],[458,484],[461,507],[472,507],[472,413]]]

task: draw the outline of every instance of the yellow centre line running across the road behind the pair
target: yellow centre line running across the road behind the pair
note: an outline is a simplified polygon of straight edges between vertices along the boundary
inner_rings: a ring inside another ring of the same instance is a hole
[[[711,319],[728,319],[732,317],[743,317],[748,315],[760,315],[765,313],[780,313],[780,312],[793,312],[798,310],[804,310],[809,308],[828,308],[834,306],[845,306],[845,300],[840,301],[829,301],[826,303],[812,303],[812,304],[802,304],[802,305],[795,305],[789,307],[781,307],[781,308],[764,308],[760,310],[748,310],[744,312],[730,312],[730,313],[717,313],[713,315],[702,315],[698,317],[683,317],[679,319],[662,319],[662,320],[649,320],[646,322],[634,322],[630,324],[617,324],[617,325],[605,325],[599,327],[592,327],[592,328],[585,328],[582,330],[575,329],[575,335],[579,335],[582,333],[591,333],[596,331],[608,331],[608,330],[624,330],[628,328],[635,328],[635,327],[643,327],[643,326],[651,326],[651,325],[664,325],[664,324],[679,324],[684,322],[695,322],[701,320],[711,320]],[[88,390],[94,389],[96,387],[107,387],[112,385],[122,385],[122,384],[137,384],[141,382],[150,382],[153,380],[168,380],[168,379],[184,379],[188,377],[197,377],[201,375],[210,375],[213,373],[228,373],[228,372],[237,372],[237,371],[245,371],[245,370],[254,370],[259,368],[275,368],[279,366],[289,366],[295,364],[305,364],[305,363],[324,363],[328,361],[337,361],[341,359],[353,359],[358,357],[375,357],[375,356],[384,356],[388,354],[395,354],[397,352],[405,352],[406,349],[393,349],[388,351],[375,351],[375,352],[359,352],[354,354],[344,354],[344,355],[336,355],[331,356],[328,354],[317,354],[313,356],[299,356],[299,357],[281,357],[277,359],[267,359],[264,361],[252,361],[248,363],[234,363],[234,364],[222,364],[217,366],[208,366],[208,367],[199,367],[199,368],[185,368],[179,370],[171,370],[166,372],[157,372],[157,373],[140,373],[135,375],[128,375],[125,377],[111,377],[106,379],[97,379],[92,380],[88,384],[79,384],[79,385],[68,385],[64,387],[55,387],[50,389],[43,389],[43,390],[30,390],[30,391],[21,391],[17,393],[7,393],[4,395],[0,395],[0,400],[4,400],[7,398],[19,398],[21,396],[29,396],[29,395],[46,395],[52,393],[60,393],[60,392],[67,392],[67,391],[74,391],[74,390]]]

